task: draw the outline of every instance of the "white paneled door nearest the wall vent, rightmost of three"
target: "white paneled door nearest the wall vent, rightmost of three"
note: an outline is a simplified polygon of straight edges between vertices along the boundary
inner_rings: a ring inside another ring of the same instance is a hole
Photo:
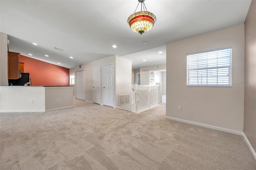
[[[103,105],[114,107],[114,64],[103,66]]]

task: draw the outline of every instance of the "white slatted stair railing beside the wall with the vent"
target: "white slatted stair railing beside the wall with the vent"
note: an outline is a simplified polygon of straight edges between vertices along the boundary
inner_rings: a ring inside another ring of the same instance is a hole
[[[132,87],[134,94],[132,95],[135,102],[132,102],[132,112],[140,113],[158,106],[159,85],[137,85]]]

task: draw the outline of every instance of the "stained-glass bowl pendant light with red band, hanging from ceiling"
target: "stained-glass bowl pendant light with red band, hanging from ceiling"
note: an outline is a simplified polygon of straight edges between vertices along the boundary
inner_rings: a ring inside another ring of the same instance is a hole
[[[134,32],[138,32],[140,34],[149,31],[155,24],[156,22],[156,16],[151,13],[148,12],[144,1],[145,0],[138,0],[138,6],[141,3],[141,11],[140,12],[136,12],[136,10],[134,11],[134,14],[130,15],[127,22],[130,26],[130,28],[134,31]],[[142,11],[143,8],[143,11]],[[146,9],[146,11],[145,11]]]

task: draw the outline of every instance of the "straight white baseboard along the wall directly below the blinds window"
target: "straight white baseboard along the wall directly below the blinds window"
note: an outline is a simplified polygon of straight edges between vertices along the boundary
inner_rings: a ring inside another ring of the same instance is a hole
[[[196,126],[200,126],[200,127],[206,127],[206,128],[211,128],[211,129],[215,129],[215,130],[220,130],[223,132],[229,132],[229,133],[233,133],[233,134],[243,135],[243,132],[240,132],[237,130],[231,130],[228,128],[216,127],[216,126],[212,126],[212,125],[207,125],[207,124],[197,123],[197,122],[192,122],[192,121],[186,121],[184,119],[178,119],[178,118],[168,117],[168,116],[166,116],[166,119],[170,119],[170,120],[178,121],[178,122],[182,122],[182,123],[188,123],[188,124],[196,125]]]

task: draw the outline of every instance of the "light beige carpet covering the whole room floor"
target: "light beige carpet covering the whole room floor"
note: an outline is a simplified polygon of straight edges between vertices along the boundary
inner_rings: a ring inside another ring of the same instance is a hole
[[[74,108],[0,113],[1,170],[255,170],[243,137],[74,99]]]

